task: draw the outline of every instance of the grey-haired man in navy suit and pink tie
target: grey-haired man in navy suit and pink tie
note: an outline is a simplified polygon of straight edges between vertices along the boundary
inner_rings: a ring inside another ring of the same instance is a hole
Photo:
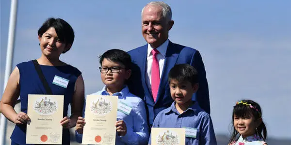
[[[208,82],[201,55],[196,49],[169,41],[173,25],[169,5],[160,1],[148,3],[142,10],[142,33],[148,44],[128,52],[133,63],[128,86],[130,92],[145,100],[149,125],[173,102],[167,77],[175,64],[191,64],[196,68],[199,89],[193,99],[210,113]]]

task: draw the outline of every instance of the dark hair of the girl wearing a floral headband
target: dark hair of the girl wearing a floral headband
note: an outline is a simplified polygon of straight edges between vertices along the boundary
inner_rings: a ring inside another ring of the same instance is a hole
[[[240,102],[236,103],[236,105],[233,107],[233,112],[232,112],[232,134],[229,140],[229,144],[236,142],[239,139],[239,132],[234,128],[234,125],[233,125],[234,116],[239,117],[239,118],[253,116],[256,120],[258,120],[259,118],[262,117],[262,110],[259,104],[252,100],[246,99],[246,100],[241,100]],[[259,137],[262,138],[264,141],[266,140],[267,129],[263,121],[257,128],[256,134],[259,135]]]

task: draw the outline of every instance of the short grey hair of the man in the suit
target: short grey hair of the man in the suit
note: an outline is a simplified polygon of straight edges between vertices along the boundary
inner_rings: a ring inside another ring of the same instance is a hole
[[[165,18],[167,21],[172,20],[172,10],[168,4],[166,4],[162,1],[151,1],[151,2],[146,4],[146,6],[149,6],[149,5],[161,6],[162,7],[162,17]],[[143,16],[143,12],[144,12],[144,9],[146,8],[146,6],[142,10],[142,16]]]

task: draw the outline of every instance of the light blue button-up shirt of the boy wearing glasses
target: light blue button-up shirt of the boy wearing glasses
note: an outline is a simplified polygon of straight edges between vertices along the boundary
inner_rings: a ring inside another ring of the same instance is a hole
[[[109,95],[104,87],[101,91],[91,95]],[[125,136],[118,136],[116,133],[115,145],[146,145],[148,142],[148,125],[146,122],[146,107],[144,101],[129,92],[129,88],[125,86],[120,92],[114,93],[112,96],[118,96],[118,101],[122,101],[132,109],[129,115],[117,111],[117,118],[125,122],[127,133]],[[83,109],[83,116],[84,111]],[[86,119],[86,118],[85,118]],[[76,141],[82,142],[82,134],[76,131]]]

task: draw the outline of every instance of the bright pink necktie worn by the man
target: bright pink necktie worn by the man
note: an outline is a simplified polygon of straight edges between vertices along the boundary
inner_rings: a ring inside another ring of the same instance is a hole
[[[153,49],[151,52],[153,54],[153,63],[151,70],[151,89],[153,93],[153,98],[156,102],[160,84],[160,68],[159,62],[157,60],[157,54],[159,53],[159,51],[157,49]]]

